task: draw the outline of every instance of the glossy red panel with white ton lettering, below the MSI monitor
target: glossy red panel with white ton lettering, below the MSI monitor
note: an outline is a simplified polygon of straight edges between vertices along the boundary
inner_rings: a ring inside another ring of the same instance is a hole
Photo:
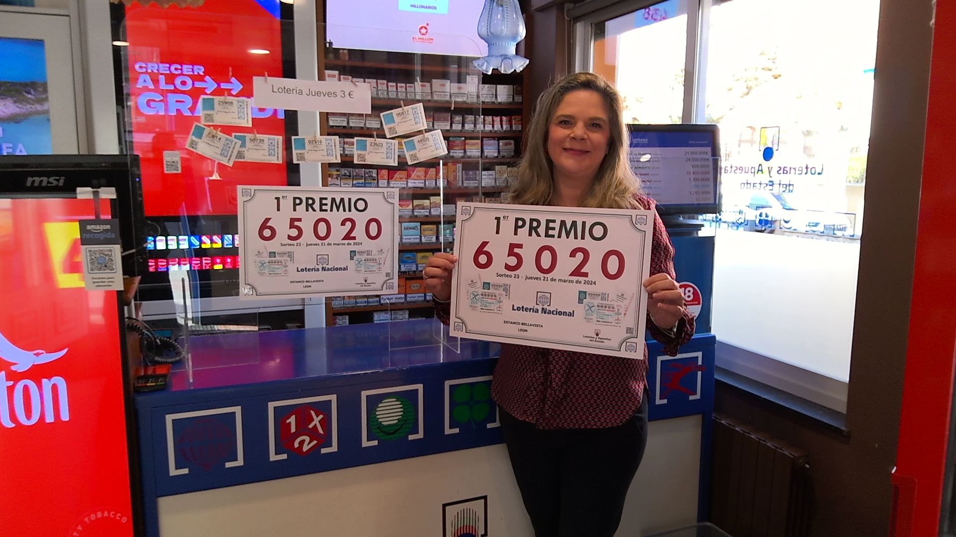
[[[2,535],[133,535],[117,295],[79,275],[92,209],[0,199]]]

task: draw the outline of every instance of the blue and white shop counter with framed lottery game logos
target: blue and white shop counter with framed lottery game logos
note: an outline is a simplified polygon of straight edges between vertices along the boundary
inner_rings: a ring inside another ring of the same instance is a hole
[[[147,535],[531,536],[489,393],[499,346],[441,333],[420,319],[193,337],[170,386],[136,397]],[[649,344],[628,531],[703,513],[713,347]]]

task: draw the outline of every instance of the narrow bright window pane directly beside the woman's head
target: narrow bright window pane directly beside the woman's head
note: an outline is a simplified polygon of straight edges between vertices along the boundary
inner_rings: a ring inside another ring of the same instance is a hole
[[[685,5],[665,0],[592,25],[592,71],[616,83],[629,123],[684,118]]]

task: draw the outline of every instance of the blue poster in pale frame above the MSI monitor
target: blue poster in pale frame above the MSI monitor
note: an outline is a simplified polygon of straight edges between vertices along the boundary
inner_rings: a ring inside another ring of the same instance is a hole
[[[70,17],[0,11],[0,157],[76,154]]]

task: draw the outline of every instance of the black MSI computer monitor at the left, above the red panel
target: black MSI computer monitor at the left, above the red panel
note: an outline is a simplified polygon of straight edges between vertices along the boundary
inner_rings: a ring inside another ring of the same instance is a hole
[[[136,155],[30,155],[0,158],[0,195],[76,196],[76,189],[116,188],[123,274],[146,270],[140,159]],[[91,205],[92,207],[92,205]],[[78,240],[79,236],[76,236]]]

